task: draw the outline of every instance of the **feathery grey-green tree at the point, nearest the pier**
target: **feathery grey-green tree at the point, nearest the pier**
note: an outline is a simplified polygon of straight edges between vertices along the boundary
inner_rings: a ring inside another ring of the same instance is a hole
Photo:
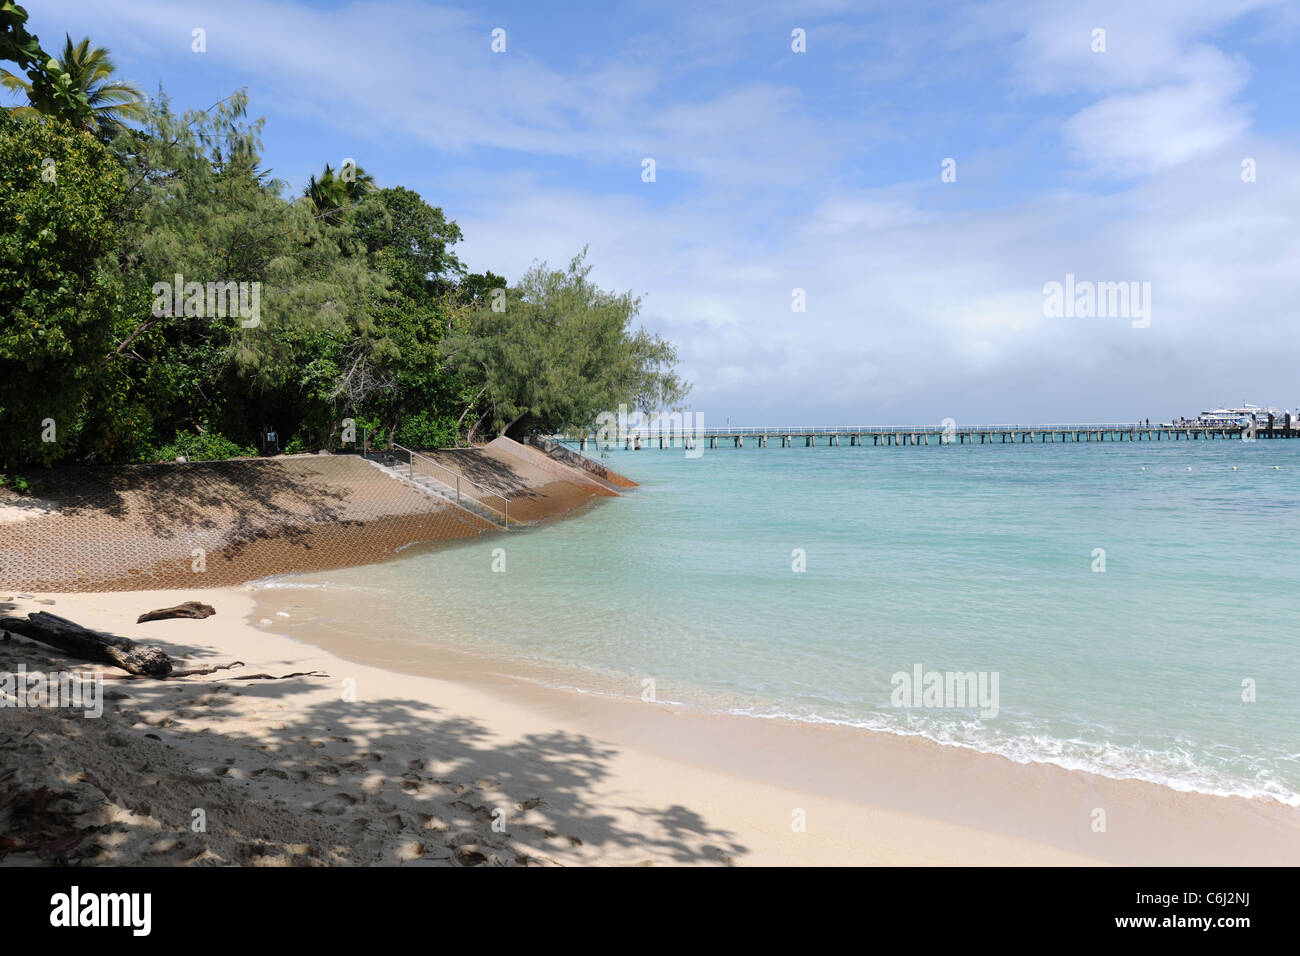
[[[534,265],[507,291],[504,311],[478,308],[443,342],[480,395],[471,441],[585,427],[620,403],[653,412],[685,398],[676,349],[633,330],[641,300],[597,287],[585,258],[564,271]]]

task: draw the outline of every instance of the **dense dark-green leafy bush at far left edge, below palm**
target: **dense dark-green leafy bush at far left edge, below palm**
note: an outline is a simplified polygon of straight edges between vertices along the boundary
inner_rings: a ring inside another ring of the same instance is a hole
[[[101,265],[122,182],[87,133],[0,112],[0,464],[49,464],[82,431],[120,304]]]

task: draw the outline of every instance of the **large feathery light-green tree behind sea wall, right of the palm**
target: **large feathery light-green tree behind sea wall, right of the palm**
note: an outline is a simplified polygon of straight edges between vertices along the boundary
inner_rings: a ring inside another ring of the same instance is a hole
[[[178,428],[220,429],[243,445],[263,423],[286,436],[307,423],[325,442],[356,394],[339,380],[370,336],[385,277],[347,221],[281,198],[285,185],[259,169],[261,121],[246,111],[243,92],[182,117],[160,98],[144,131],[114,143],[131,183],[120,213],[127,306],[104,358],[117,385],[101,419],[133,410],[133,432],[147,438],[140,454]],[[174,286],[178,274],[256,285],[256,324],[230,311],[153,308],[153,286]]]

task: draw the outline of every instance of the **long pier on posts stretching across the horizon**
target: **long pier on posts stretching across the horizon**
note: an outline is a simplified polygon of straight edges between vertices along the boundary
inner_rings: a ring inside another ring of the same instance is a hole
[[[636,428],[620,433],[616,442],[597,441],[595,434],[551,436],[552,441],[590,447],[633,449],[718,449],[751,446],[768,447],[836,447],[907,445],[1048,445],[1089,444],[1102,441],[1265,441],[1296,438],[1300,429],[1292,421],[1287,428],[1277,423],[1273,428],[1258,425],[1253,429],[1240,425],[1161,424],[1143,423],[1080,423],[1080,424],[1002,424],[1002,425],[801,425],[801,427],[746,427],[705,428],[694,431]]]

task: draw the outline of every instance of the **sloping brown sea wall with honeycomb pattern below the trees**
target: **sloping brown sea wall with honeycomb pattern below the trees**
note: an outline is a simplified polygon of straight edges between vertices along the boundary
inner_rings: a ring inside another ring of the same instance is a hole
[[[433,454],[506,494],[512,522],[564,515],[611,493],[543,470],[525,451]],[[0,591],[225,587],[497,531],[358,455],[58,468],[40,477],[39,494],[0,501]]]

